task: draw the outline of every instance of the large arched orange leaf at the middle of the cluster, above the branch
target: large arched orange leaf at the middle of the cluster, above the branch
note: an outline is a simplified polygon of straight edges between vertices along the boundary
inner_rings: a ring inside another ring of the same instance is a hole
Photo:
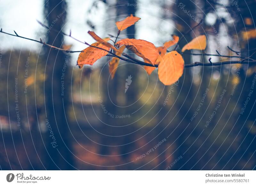
[[[155,45],[145,40],[122,39],[116,43],[117,47],[121,45],[125,45],[127,49],[143,58],[146,63],[154,64],[158,57],[158,51]]]

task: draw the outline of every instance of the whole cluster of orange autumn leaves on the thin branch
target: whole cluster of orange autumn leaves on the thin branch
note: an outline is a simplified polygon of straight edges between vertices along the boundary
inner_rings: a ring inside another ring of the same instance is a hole
[[[116,27],[119,33],[134,25],[140,18],[133,15],[128,16],[122,21],[116,22]],[[158,65],[158,77],[164,85],[171,85],[178,81],[183,74],[184,70],[184,59],[175,50],[168,52],[167,49],[179,41],[179,36],[173,35],[173,40],[167,41],[163,46],[156,47],[153,43],[150,43],[141,39],[121,39],[114,43],[114,45],[108,43],[110,38],[100,38],[94,32],[88,32],[97,42],[92,43],[91,46],[87,47],[79,54],[77,59],[77,65],[81,68],[84,65],[93,65],[98,59],[106,56],[109,51],[113,51],[116,56],[121,56],[125,48],[132,51],[137,56],[143,58],[145,63],[152,65]],[[182,48],[182,52],[185,50],[204,50],[206,48],[206,37],[200,35],[194,38],[191,42],[186,44]],[[109,61],[109,73],[111,78],[114,78],[117,67],[119,65],[120,58],[113,57]],[[144,66],[146,72],[150,75],[156,67]]]

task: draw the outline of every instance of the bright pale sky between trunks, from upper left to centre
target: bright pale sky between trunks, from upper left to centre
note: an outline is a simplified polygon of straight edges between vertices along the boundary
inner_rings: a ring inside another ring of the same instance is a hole
[[[166,1],[166,3],[168,2],[169,4],[172,4],[171,1]],[[106,19],[113,19],[114,23],[115,17],[109,18],[107,12],[114,11],[114,7],[109,8],[99,1],[97,3],[97,8],[95,8],[92,7],[93,1],[91,0],[67,0],[67,3],[67,23],[63,28],[63,31],[68,33],[71,29],[74,37],[88,43],[93,43],[94,40],[87,34],[90,27],[86,24],[86,21],[89,19],[95,24],[95,31],[98,35],[101,37],[108,36],[108,31],[106,31],[106,27],[108,27],[108,25],[106,25]],[[160,19],[164,14],[164,11],[157,8],[159,3],[155,1],[155,4],[148,4],[147,0],[140,0],[138,3],[140,3],[140,6],[138,6],[136,16],[141,19],[136,23],[136,37],[152,42],[156,46],[169,40],[170,35],[174,30],[174,22],[171,20],[168,20],[167,22]],[[90,13],[88,13],[89,9],[91,10]],[[42,28],[36,22],[36,20],[44,21],[43,10],[44,0],[12,0],[12,2],[0,0],[0,26],[5,32],[13,33],[13,30],[15,30],[18,35],[39,40],[39,38],[42,38],[46,32],[46,29]],[[170,12],[170,14],[172,13]],[[161,30],[159,30],[159,28]],[[113,29],[115,30],[116,28]],[[111,30],[109,30],[109,32],[111,32]],[[0,40],[1,45],[4,45],[4,50],[28,49],[38,51],[41,47],[38,43],[4,34],[0,35]],[[86,45],[78,43],[68,37],[65,37],[65,43],[73,44],[72,50],[83,50],[86,48]],[[74,58],[77,58],[77,56],[78,53],[72,54],[72,57]]]

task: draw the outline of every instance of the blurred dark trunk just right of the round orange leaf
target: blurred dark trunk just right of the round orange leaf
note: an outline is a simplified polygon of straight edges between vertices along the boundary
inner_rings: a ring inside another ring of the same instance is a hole
[[[185,10],[190,11],[191,14],[193,13],[195,15],[195,4],[191,2],[190,0],[177,0],[177,6],[181,3],[186,5],[184,7]],[[175,5],[174,5],[175,6]],[[186,33],[188,30],[191,30],[192,27],[194,27],[197,23],[191,19],[187,13],[183,11],[180,7],[177,7],[177,17],[178,17],[178,23],[182,27],[182,32]],[[191,32],[193,33],[193,32]],[[183,40],[180,42],[180,49],[188,43],[192,39],[191,33],[184,36]],[[179,35],[181,36],[181,35]],[[195,35],[193,35],[195,37]],[[191,58],[188,55],[183,55],[185,64],[191,63]],[[183,159],[189,159],[189,154],[186,153],[183,155],[183,153],[188,149],[189,142],[185,141],[185,139],[188,137],[188,135],[191,133],[192,125],[189,123],[189,117],[192,115],[192,112],[189,109],[189,106],[192,104],[194,96],[193,96],[193,75],[190,69],[184,69],[184,74],[179,79],[179,86],[178,86],[178,100],[176,107],[179,108],[177,110],[178,115],[178,121],[179,123],[176,123],[175,125],[179,125],[179,127],[176,129],[177,132],[173,133],[172,140],[176,140],[175,150],[173,160],[177,159],[179,156],[186,156]],[[188,106],[189,105],[189,106]],[[189,126],[188,126],[189,125]],[[188,126],[188,128],[186,128]],[[176,127],[176,126],[175,126]],[[186,128],[186,129],[185,129]],[[185,142],[184,142],[185,141]],[[182,160],[183,160],[182,159]],[[172,169],[179,169],[182,164],[182,160],[180,160],[179,163],[175,164],[175,166]],[[183,162],[185,163],[185,162]],[[187,163],[182,167],[183,170],[189,170],[190,165]]]

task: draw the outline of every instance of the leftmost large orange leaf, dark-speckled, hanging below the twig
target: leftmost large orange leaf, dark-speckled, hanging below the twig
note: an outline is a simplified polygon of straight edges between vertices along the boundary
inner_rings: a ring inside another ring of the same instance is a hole
[[[105,39],[104,41],[108,40],[109,38]],[[95,63],[98,59],[108,54],[107,51],[95,47],[110,50],[110,47],[103,45],[99,42],[92,43],[91,46],[83,50],[84,52],[81,52],[79,54],[77,59],[77,65],[79,66],[79,68],[83,67],[84,65],[93,65],[93,63]]]

